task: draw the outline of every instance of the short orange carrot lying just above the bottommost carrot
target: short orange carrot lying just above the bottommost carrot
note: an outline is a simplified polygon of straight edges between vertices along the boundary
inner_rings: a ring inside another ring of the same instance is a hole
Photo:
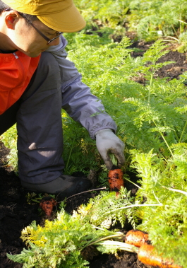
[[[128,231],[126,233],[125,243],[140,247],[145,243],[149,243],[148,233],[139,230]]]

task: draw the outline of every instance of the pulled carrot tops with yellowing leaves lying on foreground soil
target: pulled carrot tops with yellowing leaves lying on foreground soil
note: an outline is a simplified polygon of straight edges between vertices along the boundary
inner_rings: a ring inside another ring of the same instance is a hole
[[[81,205],[77,211],[73,211],[72,216],[62,208],[57,219],[45,221],[44,227],[36,226],[34,221],[23,229],[21,238],[29,245],[29,249],[8,257],[23,263],[24,268],[88,267],[89,262],[84,260],[84,254],[90,246],[100,246],[102,252],[118,250],[119,245],[116,247],[115,242],[110,247],[104,247],[103,244],[101,247],[100,243],[123,238],[123,233],[109,231],[108,228],[116,221],[120,221],[123,226],[125,213],[128,221],[134,224],[135,207],[132,205],[133,197],[123,188],[118,199],[114,192],[101,192],[90,199],[87,205]]]

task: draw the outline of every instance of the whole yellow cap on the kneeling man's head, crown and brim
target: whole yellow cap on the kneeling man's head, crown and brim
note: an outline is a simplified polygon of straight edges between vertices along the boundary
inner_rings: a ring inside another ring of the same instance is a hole
[[[35,15],[49,28],[73,33],[85,27],[85,21],[73,0],[3,0],[10,8]]]

